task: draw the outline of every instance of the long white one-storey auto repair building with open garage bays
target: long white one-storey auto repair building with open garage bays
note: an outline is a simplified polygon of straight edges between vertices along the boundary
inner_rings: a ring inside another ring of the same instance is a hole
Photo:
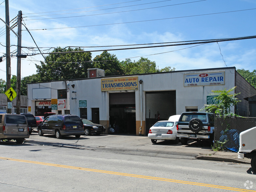
[[[31,113],[75,114],[105,128],[115,124],[120,134],[146,136],[158,120],[213,104],[212,90],[236,86],[231,93],[240,92],[241,102],[232,111],[247,117],[249,106],[244,98],[256,94],[235,67],[107,77],[97,75],[98,71],[88,69],[85,79],[27,84]]]

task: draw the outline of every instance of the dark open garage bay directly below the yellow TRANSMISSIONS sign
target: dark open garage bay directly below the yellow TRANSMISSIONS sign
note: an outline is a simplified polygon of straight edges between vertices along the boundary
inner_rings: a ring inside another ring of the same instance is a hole
[[[110,93],[110,125],[116,134],[136,134],[135,92]]]

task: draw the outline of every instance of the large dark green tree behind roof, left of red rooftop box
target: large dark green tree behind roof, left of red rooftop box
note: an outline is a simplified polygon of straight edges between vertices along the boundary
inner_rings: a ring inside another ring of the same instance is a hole
[[[87,69],[92,68],[92,53],[79,52],[81,48],[55,48],[56,52],[77,52],[77,53],[58,53],[46,56],[45,63],[36,65],[38,80],[41,82],[61,79],[86,78]]]

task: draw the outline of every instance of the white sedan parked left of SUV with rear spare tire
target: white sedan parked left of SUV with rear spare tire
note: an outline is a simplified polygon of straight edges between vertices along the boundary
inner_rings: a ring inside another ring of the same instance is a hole
[[[180,115],[173,115],[169,120],[156,122],[148,133],[148,138],[151,139],[152,143],[156,143],[157,140],[173,140],[175,144],[179,143],[176,128],[179,117]]]

